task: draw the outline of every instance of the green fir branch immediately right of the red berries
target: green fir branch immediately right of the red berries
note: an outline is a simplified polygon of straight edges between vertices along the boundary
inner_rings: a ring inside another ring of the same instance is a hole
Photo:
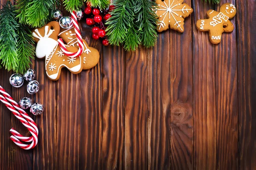
[[[115,9],[111,11],[107,21],[107,37],[111,45],[119,46],[127,36],[128,30],[133,26],[134,11],[130,8],[130,0],[113,0]]]

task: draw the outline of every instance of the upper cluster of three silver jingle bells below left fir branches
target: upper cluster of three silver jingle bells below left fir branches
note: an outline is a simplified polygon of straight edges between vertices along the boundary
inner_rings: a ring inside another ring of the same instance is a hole
[[[13,87],[19,88],[23,85],[24,79],[29,82],[27,85],[27,91],[29,94],[35,94],[39,91],[39,83],[35,80],[35,70],[29,68],[23,77],[20,74],[12,74],[10,77],[10,83]]]

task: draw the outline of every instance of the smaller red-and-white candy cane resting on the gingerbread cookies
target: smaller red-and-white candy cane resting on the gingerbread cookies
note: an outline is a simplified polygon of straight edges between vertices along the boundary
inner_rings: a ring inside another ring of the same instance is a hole
[[[79,26],[78,26],[78,22],[77,22],[77,19],[76,19],[76,12],[75,11],[71,12],[71,18],[72,18],[73,26],[75,28],[76,37],[77,37],[78,44],[79,44],[79,50],[76,53],[72,53],[72,52],[68,51],[67,48],[65,47],[65,44],[64,44],[63,40],[61,38],[58,39],[58,43],[61,47],[61,50],[64,52],[64,54],[66,54],[69,57],[74,58],[74,57],[78,57],[82,54],[82,52],[84,51],[84,44],[83,44],[83,40],[82,40],[82,37],[81,37],[81,32],[79,30]]]

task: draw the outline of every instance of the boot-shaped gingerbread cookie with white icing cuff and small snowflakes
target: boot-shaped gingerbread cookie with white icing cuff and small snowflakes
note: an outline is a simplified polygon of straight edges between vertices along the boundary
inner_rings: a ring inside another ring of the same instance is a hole
[[[35,42],[37,42],[36,57],[45,57],[46,73],[49,79],[52,80],[59,79],[61,68],[66,67],[73,74],[78,74],[82,71],[86,63],[85,59],[81,58],[81,56],[72,58],[64,54],[57,41],[59,32],[60,26],[56,21],[52,21],[46,26],[32,31],[32,36]],[[66,45],[66,48],[70,52],[78,51],[78,48],[74,46]],[[91,55],[97,58],[99,52],[97,50],[93,51]]]

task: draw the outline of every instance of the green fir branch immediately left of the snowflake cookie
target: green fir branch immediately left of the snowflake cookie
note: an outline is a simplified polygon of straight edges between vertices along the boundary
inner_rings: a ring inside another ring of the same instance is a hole
[[[157,15],[152,9],[157,4],[151,0],[137,0],[136,6],[136,25],[140,31],[140,40],[146,48],[150,48],[157,41]]]

